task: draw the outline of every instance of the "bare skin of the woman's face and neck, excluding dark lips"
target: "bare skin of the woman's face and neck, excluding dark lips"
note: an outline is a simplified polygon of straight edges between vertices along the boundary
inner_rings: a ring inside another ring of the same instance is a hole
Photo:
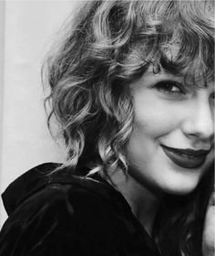
[[[158,85],[164,80],[168,80],[166,85]],[[199,86],[203,84],[198,81]],[[135,116],[127,148],[128,176],[116,172],[111,179],[150,235],[162,194],[188,194],[213,161],[214,89],[212,82],[198,88],[191,82],[185,84],[183,76],[162,69],[155,74],[152,67],[130,89]],[[184,168],[174,164],[160,144],[210,149],[210,154],[200,167]]]

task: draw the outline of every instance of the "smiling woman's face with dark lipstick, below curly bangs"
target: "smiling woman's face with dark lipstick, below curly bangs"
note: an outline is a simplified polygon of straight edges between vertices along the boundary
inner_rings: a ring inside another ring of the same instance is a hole
[[[150,67],[130,89],[135,116],[129,175],[161,191],[189,193],[214,157],[213,82],[185,85],[184,77],[154,74]]]

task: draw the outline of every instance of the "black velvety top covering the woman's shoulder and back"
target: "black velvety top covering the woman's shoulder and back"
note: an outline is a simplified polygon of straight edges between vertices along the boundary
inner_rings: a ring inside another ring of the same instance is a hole
[[[100,176],[38,165],[2,195],[0,256],[160,256],[126,199]]]

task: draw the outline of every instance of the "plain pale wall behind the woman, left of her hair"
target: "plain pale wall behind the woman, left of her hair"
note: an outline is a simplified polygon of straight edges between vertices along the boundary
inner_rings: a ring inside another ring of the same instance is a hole
[[[46,127],[40,69],[75,1],[0,0],[0,192],[44,162],[62,162],[65,149]],[[0,227],[6,219],[2,200]]]

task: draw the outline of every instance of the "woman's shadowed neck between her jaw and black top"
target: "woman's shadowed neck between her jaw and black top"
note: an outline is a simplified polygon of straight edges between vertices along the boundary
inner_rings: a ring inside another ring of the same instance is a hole
[[[160,197],[132,176],[116,171],[110,176],[118,191],[126,198],[133,214],[151,236],[153,223],[159,208]]]

